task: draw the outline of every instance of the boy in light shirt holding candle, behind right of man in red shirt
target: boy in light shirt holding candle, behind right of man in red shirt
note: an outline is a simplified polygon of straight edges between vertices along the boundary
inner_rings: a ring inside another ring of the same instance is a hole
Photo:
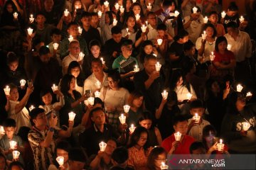
[[[200,120],[197,122],[195,119],[188,119],[188,132],[187,134],[193,137],[195,140],[202,141],[203,128],[206,125],[210,125],[207,120],[203,119],[203,113],[205,108],[203,107],[203,101],[197,99],[191,102],[190,113],[195,116],[196,113],[200,116]]]

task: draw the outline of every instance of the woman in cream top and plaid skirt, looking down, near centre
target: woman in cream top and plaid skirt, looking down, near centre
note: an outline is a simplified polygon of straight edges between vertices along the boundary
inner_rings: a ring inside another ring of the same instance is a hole
[[[123,106],[128,103],[129,91],[122,88],[119,72],[109,72],[107,81],[109,87],[104,87],[100,91],[100,99],[105,103],[105,111],[109,123],[117,128],[119,125],[119,115],[123,113]]]

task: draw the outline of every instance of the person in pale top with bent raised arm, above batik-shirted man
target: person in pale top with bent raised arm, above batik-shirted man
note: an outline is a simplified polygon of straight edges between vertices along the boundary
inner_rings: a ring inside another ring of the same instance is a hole
[[[60,123],[59,123],[60,115],[59,115],[58,111],[60,111],[60,108],[62,108],[64,106],[65,101],[64,101],[63,94],[59,90],[54,91],[53,93],[58,95],[58,97],[60,98],[60,101],[52,104],[53,95],[51,94],[51,91],[50,90],[41,91],[40,96],[45,105],[44,106],[41,105],[41,106],[39,106],[39,108],[43,108],[46,111],[46,114],[52,112],[53,115],[56,115],[58,118],[57,125],[59,126],[60,125]]]

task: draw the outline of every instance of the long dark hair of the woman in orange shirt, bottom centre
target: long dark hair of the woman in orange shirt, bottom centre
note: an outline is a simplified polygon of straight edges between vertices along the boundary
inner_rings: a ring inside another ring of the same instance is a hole
[[[148,143],[149,143],[149,133],[146,130],[146,128],[142,127],[142,126],[138,126],[134,132],[132,133],[130,139],[129,139],[129,144],[128,144],[128,148],[130,147],[134,147],[135,145],[137,145],[137,142],[139,141],[140,135],[142,135],[142,133],[146,133],[148,139],[146,140],[146,143],[144,145],[144,149],[146,149],[146,147],[148,147]]]

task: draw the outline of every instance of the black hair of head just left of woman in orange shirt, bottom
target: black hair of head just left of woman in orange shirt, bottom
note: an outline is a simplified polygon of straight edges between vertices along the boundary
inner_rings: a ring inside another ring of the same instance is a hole
[[[128,150],[125,147],[117,147],[114,149],[111,158],[117,162],[117,164],[123,164],[129,158]]]

